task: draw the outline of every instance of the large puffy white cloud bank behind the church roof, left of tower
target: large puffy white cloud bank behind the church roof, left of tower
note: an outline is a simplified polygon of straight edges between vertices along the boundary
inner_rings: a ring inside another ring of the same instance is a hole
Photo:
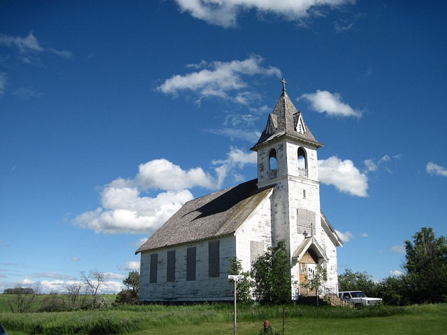
[[[221,188],[229,172],[241,180],[235,168],[256,163],[256,153],[232,148],[227,158],[213,161],[216,177],[202,168],[183,170],[166,159],[141,164],[134,179],[118,178],[101,190],[101,207],[76,216],[73,224],[104,234],[152,234],[170,216],[193,199],[189,188]],[[143,191],[161,190],[154,198]],[[140,244],[141,245],[141,244]]]

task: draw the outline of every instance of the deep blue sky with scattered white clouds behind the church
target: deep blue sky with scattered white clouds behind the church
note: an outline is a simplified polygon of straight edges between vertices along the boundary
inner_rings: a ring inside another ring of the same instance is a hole
[[[184,202],[257,177],[282,77],[325,144],[339,273],[447,235],[446,1],[259,3],[1,1],[1,292],[93,269],[118,292]]]

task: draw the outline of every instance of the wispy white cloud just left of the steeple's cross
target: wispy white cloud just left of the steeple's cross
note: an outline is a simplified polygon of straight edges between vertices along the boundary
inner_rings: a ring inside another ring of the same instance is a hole
[[[281,77],[278,68],[261,66],[262,57],[253,55],[243,61],[213,61],[207,64],[202,61],[190,68],[201,68],[198,72],[187,75],[173,75],[165,80],[157,89],[164,94],[178,95],[181,91],[191,91],[198,95],[198,101],[202,98],[219,97],[238,104],[247,105],[247,97],[254,93],[247,91],[247,84],[243,76],[274,75]]]

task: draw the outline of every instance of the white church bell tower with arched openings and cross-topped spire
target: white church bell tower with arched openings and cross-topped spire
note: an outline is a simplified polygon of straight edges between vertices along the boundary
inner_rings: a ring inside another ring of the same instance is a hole
[[[321,234],[320,181],[316,151],[323,147],[312,135],[302,112],[296,110],[282,82],[282,94],[258,142],[258,187],[274,186],[272,244],[286,241],[294,253],[306,238]]]

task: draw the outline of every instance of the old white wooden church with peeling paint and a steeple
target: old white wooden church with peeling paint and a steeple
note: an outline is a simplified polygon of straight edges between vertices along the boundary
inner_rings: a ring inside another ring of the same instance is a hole
[[[268,116],[258,142],[258,178],[186,202],[135,254],[141,253],[140,301],[232,301],[229,259],[244,271],[284,240],[292,296],[316,265],[337,288],[342,240],[320,208],[317,149],[323,147],[286,93]]]

